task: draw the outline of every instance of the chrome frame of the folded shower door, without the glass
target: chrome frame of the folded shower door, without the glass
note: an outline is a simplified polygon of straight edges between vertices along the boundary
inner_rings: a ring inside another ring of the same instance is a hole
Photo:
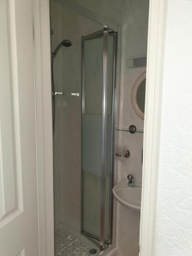
[[[117,63],[117,32],[104,26],[103,30],[81,37],[81,101],[82,114],[84,114],[84,41],[103,37],[103,78],[102,78],[102,143],[101,143],[101,193],[100,193],[100,238],[83,230],[83,170],[81,160],[81,233],[95,243],[99,240],[100,250],[104,250],[104,220],[105,220],[105,176],[106,176],[106,118],[107,118],[107,86],[108,86],[108,38],[113,35],[113,98],[112,98],[112,152],[111,152],[111,177],[110,177],[110,207],[109,207],[109,241],[113,236],[113,194],[114,184],[114,146],[115,146],[115,101],[116,101],[116,63]],[[82,143],[82,142],[81,142]]]

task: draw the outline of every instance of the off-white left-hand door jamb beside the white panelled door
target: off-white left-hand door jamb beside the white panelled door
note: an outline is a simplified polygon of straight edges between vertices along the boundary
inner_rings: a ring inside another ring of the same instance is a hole
[[[54,256],[49,0],[33,0],[39,255]]]

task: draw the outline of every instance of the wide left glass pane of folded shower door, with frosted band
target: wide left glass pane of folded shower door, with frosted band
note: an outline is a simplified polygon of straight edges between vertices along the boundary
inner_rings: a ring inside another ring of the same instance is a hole
[[[83,231],[100,235],[103,38],[84,41]]]

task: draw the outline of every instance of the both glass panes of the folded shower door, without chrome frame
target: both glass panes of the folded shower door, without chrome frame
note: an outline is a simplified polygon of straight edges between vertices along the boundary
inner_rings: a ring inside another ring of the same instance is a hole
[[[108,80],[106,105],[106,171],[104,236],[110,242],[110,202],[113,146],[113,63],[114,33],[108,41]],[[100,239],[101,143],[103,106],[103,37],[83,41],[82,84],[82,232],[95,242]]]

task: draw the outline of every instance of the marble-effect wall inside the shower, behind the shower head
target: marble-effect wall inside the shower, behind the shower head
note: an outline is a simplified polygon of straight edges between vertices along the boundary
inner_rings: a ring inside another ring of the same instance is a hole
[[[51,1],[52,50],[63,39],[72,41],[62,47],[54,60],[56,119],[54,134],[55,222],[69,220],[80,228],[81,176],[81,35],[100,30],[101,26]]]

